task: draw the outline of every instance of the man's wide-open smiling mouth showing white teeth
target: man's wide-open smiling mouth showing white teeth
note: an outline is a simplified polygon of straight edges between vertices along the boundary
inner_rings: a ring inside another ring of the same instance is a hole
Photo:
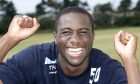
[[[67,53],[71,56],[79,56],[82,54],[83,48],[67,48]]]

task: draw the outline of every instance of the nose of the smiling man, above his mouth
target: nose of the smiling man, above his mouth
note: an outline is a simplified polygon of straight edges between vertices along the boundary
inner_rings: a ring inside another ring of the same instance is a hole
[[[80,40],[81,40],[80,36],[78,35],[78,33],[75,32],[73,33],[73,35],[71,35],[70,43],[76,46],[80,44]]]

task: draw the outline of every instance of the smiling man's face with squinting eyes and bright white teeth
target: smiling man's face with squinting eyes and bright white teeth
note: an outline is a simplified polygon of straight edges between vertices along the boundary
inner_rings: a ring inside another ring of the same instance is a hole
[[[60,17],[55,38],[61,62],[78,66],[88,60],[94,39],[91,27],[84,14],[68,13]]]

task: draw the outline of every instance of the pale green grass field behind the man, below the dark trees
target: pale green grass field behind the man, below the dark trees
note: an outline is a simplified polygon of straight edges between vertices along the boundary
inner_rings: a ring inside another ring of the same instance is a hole
[[[106,52],[112,58],[117,59],[120,61],[119,57],[115,53],[114,50],[114,41],[113,36],[119,30],[128,31],[138,35],[140,39],[140,27],[122,27],[122,28],[113,28],[113,29],[100,29],[95,30],[95,40],[93,47],[98,48]],[[52,33],[37,33],[34,36],[28,38],[27,40],[22,41],[19,43],[15,48],[13,48],[5,57],[4,61],[7,58],[10,58],[13,54],[17,53],[18,51],[22,50],[23,48],[33,45],[33,44],[40,44],[45,42],[53,41],[54,37]],[[137,58],[140,62],[140,42],[138,42],[138,50],[137,50]]]

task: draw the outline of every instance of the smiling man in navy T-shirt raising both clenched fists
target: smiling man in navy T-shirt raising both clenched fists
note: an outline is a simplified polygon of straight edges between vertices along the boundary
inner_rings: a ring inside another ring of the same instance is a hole
[[[92,48],[95,36],[94,23],[88,12],[79,7],[66,8],[57,15],[55,21],[56,41],[30,46],[2,63],[1,82],[4,84],[127,84],[122,65],[102,51]],[[38,27],[35,18],[15,16],[8,33],[1,40],[3,43],[0,47],[1,61],[11,48],[31,36]],[[131,38],[134,39],[130,42]],[[122,59],[125,59],[125,56],[131,55],[132,58],[135,56],[136,41],[136,37],[129,33],[116,34],[115,47],[118,54],[124,57]],[[134,44],[134,51],[123,49],[125,47],[123,45],[127,45],[128,42],[131,46]],[[4,48],[6,43],[8,46]],[[124,53],[127,50],[129,52]],[[126,66],[126,70],[132,72],[129,68]],[[131,83],[131,78],[128,82]]]

